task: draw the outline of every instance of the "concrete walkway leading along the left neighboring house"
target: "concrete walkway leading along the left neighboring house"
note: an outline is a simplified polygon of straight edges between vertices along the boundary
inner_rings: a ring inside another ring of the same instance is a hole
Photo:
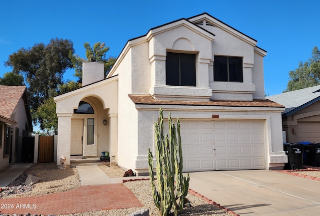
[[[0,187],[6,187],[22,172],[29,168],[32,163],[12,163],[10,168],[0,174]]]

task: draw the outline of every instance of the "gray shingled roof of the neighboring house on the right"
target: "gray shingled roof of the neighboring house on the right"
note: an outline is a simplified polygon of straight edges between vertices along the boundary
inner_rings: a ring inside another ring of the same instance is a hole
[[[289,116],[306,106],[319,101],[320,85],[272,95],[266,98],[282,104],[285,107],[285,110],[282,112],[282,116]]]

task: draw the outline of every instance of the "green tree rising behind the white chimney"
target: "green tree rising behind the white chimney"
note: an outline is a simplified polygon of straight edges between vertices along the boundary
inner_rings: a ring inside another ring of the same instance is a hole
[[[90,47],[90,44],[86,42],[83,46],[85,49],[86,60],[80,58],[76,54],[73,55],[73,53],[69,53],[69,58],[71,59],[74,68],[74,76],[78,78],[78,82],[82,82],[82,63],[84,61],[90,61],[90,59],[95,59],[97,62],[104,63],[104,75],[106,76],[116,61],[116,58],[114,57],[109,57],[108,59],[105,58],[106,52],[109,48],[105,47],[105,44],[101,42],[95,43],[93,47]]]

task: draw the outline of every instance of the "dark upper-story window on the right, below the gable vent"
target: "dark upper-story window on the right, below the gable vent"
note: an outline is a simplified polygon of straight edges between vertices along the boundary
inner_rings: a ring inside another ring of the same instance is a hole
[[[214,56],[214,81],[243,82],[242,57]]]

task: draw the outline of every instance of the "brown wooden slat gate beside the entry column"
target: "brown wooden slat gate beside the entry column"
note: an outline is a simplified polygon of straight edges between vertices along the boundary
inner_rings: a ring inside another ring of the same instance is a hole
[[[38,162],[53,162],[54,136],[39,136]]]

